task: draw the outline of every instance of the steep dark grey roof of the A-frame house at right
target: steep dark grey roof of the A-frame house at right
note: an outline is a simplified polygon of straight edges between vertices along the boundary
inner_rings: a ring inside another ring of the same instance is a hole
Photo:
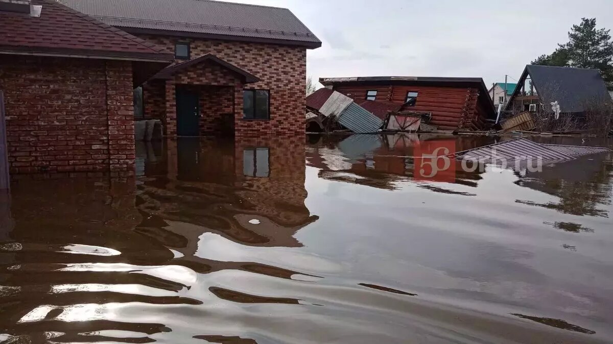
[[[582,112],[586,103],[611,101],[603,78],[596,69],[527,65],[526,71],[541,102],[549,105],[557,100],[562,112]]]

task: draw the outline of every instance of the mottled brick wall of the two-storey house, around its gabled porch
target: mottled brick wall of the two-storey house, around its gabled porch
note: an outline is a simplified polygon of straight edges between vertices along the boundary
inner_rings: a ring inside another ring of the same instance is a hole
[[[190,42],[191,58],[212,53],[218,58],[252,73],[261,81],[246,84],[245,89],[270,90],[270,121],[247,120],[242,116],[242,91],[235,106],[235,132],[238,136],[304,133],[307,50],[303,47],[226,40],[179,39],[179,37],[140,35],[153,43],[174,50],[175,42]],[[189,81],[186,80],[186,81]],[[147,99],[145,94],[145,108]]]

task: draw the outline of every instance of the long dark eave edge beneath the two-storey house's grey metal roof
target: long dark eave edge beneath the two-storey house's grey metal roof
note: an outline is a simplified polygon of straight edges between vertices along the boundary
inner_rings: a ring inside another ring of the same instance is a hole
[[[115,26],[130,34],[153,34],[161,36],[177,36],[177,37],[191,37],[201,39],[218,39],[218,40],[235,40],[239,42],[253,42],[253,43],[271,43],[278,45],[294,45],[297,47],[305,47],[307,49],[316,49],[321,47],[321,42],[308,42],[303,40],[291,40],[291,39],[272,39],[264,37],[248,37],[248,36],[233,36],[233,35],[221,35],[221,34],[207,34],[204,32],[190,32],[190,31],[174,31],[174,30],[161,30],[161,29],[149,29],[149,28],[133,28],[130,26]]]

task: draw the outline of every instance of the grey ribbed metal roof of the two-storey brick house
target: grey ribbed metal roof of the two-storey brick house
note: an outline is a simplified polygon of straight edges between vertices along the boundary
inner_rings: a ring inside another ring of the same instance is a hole
[[[288,9],[210,0],[63,0],[68,6],[130,32],[284,42],[321,47]]]

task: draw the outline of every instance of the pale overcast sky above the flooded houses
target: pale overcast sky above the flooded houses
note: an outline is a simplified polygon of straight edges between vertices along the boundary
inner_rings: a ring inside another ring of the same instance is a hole
[[[234,0],[290,9],[323,42],[307,75],[518,79],[581,17],[613,28],[613,0]]]

